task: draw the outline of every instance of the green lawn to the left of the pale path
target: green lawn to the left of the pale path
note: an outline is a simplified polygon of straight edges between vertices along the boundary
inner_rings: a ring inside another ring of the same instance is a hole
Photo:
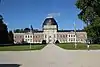
[[[46,45],[32,45],[31,50],[41,50]],[[0,51],[28,51],[30,50],[29,45],[20,46],[0,46]]]

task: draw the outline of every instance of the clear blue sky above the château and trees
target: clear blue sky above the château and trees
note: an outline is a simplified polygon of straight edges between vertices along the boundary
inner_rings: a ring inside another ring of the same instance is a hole
[[[9,30],[17,28],[42,29],[48,14],[55,13],[58,28],[63,30],[83,29],[84,23],[78,19],[76,0],[1,0],[0,14]],[[57,15],[57,14],[60,15]]]

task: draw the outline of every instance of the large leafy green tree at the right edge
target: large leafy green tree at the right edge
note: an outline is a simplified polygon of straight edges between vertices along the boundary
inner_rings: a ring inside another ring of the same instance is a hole
[[[100,0],[77,0],[76,6],[80,9],[79,19],[87,25],[84,30],[88,38],[93,39],[94,43],[100,40]]]

